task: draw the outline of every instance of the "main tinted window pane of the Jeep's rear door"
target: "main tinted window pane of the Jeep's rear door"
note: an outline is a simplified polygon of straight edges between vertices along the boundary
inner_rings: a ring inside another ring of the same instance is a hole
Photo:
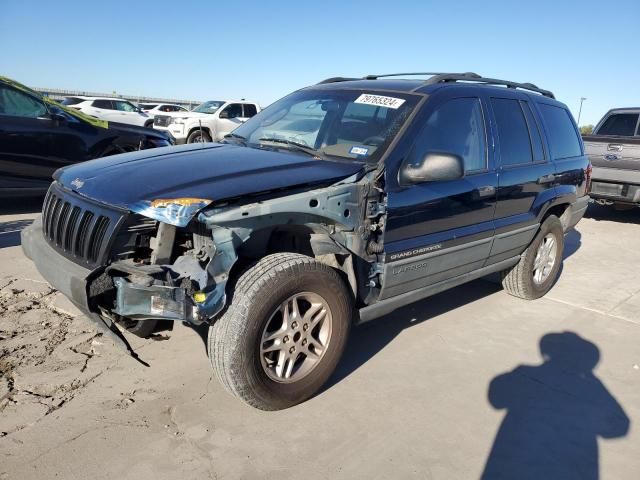
[[[533,162],[527,122],[518,100],[492,98],[503,166]]]

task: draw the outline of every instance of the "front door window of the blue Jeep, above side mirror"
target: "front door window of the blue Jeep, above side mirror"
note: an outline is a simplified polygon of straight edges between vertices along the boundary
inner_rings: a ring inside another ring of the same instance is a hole
[[[478,98],[456,98],[437,107],[416,143],[416,153],[452,153],[464,160],[466,172],[483,170],[486,161],[484,117]]]

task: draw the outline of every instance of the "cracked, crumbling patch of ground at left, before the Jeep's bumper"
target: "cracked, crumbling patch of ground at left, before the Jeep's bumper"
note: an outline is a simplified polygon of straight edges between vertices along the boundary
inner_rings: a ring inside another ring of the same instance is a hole
[[[0,436],[69,403],[107,369],[101,334],[45,282],[0,279]]]

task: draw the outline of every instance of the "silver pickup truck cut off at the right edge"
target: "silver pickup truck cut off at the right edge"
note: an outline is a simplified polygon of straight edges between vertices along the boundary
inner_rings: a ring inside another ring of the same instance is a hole
[[[640,205],[640,108],[610,110],[582,139],[593,165],[591,198],[600,205]]]

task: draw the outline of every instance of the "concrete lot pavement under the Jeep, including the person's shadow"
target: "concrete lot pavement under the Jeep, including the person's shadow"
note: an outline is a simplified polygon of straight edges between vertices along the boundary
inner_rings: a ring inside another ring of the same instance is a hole
[[[589,215],[545,298],[482,280],[407,306],[353,330],[319,395],[271,413],[212,379],[189,328],[136,341],[150,367],[135,362],[7,242],[0,367],[18,399],[0,404],[0,478],[639,478],[640,210]]]

